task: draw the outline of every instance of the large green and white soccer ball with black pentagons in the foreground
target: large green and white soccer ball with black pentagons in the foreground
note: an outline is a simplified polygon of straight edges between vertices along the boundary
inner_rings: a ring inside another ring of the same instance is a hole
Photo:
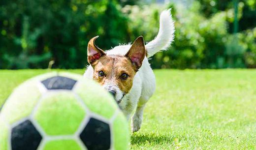
[[[81,75],[32,78],[0,112],[0,150],[128,150],[128,123],[113,97]]]

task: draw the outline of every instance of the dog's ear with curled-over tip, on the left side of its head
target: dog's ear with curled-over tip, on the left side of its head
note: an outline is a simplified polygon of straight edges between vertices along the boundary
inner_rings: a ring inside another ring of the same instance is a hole
[[[90,39],[87,47],[87,60],[90,64],[94,63],[101,56],[105,55],[104,51],[95,45],[96,38],[98,38],[98,36]]]

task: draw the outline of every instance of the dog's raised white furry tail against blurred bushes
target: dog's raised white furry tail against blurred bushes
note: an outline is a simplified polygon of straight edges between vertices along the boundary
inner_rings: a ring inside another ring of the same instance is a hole
[[[167,50],[174,39],[174,22],[171,9],[164,10],[160,14],[160,28],[157,37],[145,45],[147,57],[150,58],[159,51]]]

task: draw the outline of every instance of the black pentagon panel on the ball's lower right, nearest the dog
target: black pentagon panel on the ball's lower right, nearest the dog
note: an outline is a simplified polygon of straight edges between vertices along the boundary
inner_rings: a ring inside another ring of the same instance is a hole
[[[109,125],[100,120],[91,118],[80,138],[88,150],[109,150],[110,149],[110,128]]]

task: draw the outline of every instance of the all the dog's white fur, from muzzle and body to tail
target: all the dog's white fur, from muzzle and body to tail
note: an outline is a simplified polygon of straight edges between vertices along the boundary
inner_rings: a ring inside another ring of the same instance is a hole
[[[162,11],[160,15],[160,29],[158,35],[154,40],[145,45],[148,56],[147,58],[145,57],[142,66],[139,71],[136,72],[131,90],[123,97],[119,104],[119,107],[123,110],[127,119],[130,118],[130,115],[136,108],[136,112],[134,113],[131,121],[131,129],[133,132],[140,129],[143,109],[156,89],[155,75],[150,67],[148,58],[161,50],[166,50],[170,46],[174,39],[174,31],[174,23],[170,14],[170,9]],[[125,56],[130,47],[130,44],[116,46],[113,49],[106,51],[106,55]],[[89,65],[84,76],[93,79],[93,73],[94,69]],[[120,100],[123,92],[116,85],[112,85],[112,83],[104,85],[105,89],[108,89],[109,87],[112,87],[114,88],[113,90],[117,91],[115,99]]]

